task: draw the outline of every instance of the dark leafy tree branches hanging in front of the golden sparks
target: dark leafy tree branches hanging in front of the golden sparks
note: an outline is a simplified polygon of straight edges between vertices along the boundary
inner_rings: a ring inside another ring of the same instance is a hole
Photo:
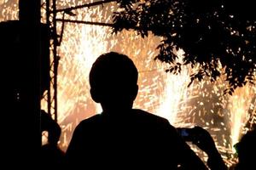
[[[181,71],[181,65],[200,65],[191,81],[226,76],[232,94],[237,87],[255,82],[256,12],[253,1],[231,0],[119,0],[114,13],[114,32],[136,30],[142,37],[152,32],[163,37],[155,59],[172,64],[166,70]],[[176,49],[185,52],[183,63]],[[221,64],[223,69],[219,69]]]

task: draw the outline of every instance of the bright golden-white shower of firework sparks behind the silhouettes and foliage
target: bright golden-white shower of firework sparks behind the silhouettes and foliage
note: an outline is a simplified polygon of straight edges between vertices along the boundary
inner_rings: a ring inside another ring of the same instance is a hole
[[[62,0],[57,2],[57,7],[67,8],[85,2]],[[0,21],[18,19],[17,4],[17,0],[0,1]],[[74,11],[75,16],[67,15],[65,19],[110,23],[111,13],[115,9],[115,3],[81,8]],[[44,13],[44,9],[42,11]],[[61,18],[62,15],[58,14],[57,17]],[[61,27],[61,23],[58,27]],[[58,48],[61,57],[57,96],[58,122],[62,128],[61,148],[67,149],[73,129],[81,120],[101,112],[101,107],[90,99],[90,66],[100,54],[117,51],[130,56],[139,71],[139,93],[134,108],[166,117],[175,127],[198,125],[206,128],[226,163],[231,165],[233,144],[249,128],[248,120],[255,121],[256,87],[247,84],[237,88],[232,96],[224,95],[227,85],[224,77],[216,82],[194,82],[188,87],[193,69],[183,67],[180,74],[172,75],[165,71],[168,65],[154,60],[160,37],[149,34],[142,38],[133,31],[122,31],[116,35],[111,31],[107,26],[65,23],[63,39]],[[182,59],[183,51],[179,50],[177,54]]]

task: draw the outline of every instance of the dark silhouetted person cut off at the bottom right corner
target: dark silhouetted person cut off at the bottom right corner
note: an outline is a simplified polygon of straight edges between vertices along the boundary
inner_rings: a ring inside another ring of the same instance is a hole
[[[255,155],[256,155],[256,129],[255,127],[245,133],[240,141],[235,144],[238,163],[235,170],[249,170],[255,169]]]

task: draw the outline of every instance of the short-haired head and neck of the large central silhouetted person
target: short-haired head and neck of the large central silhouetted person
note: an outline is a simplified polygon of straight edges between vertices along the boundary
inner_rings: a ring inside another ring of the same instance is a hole
[[[90,94],[105,112],[130,110],[137,97],[137,68],[115,52],[100,55],[90,70]]]

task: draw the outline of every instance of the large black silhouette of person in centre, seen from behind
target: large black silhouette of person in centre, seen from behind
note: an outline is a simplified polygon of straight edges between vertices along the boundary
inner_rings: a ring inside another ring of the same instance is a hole
[[[132,109],[137,68],[124,54],[100,55],[90,70],[90,94],[102,113],[80,122],[68,145],[67,166],[98,169],[207,169],[160,116]]]

